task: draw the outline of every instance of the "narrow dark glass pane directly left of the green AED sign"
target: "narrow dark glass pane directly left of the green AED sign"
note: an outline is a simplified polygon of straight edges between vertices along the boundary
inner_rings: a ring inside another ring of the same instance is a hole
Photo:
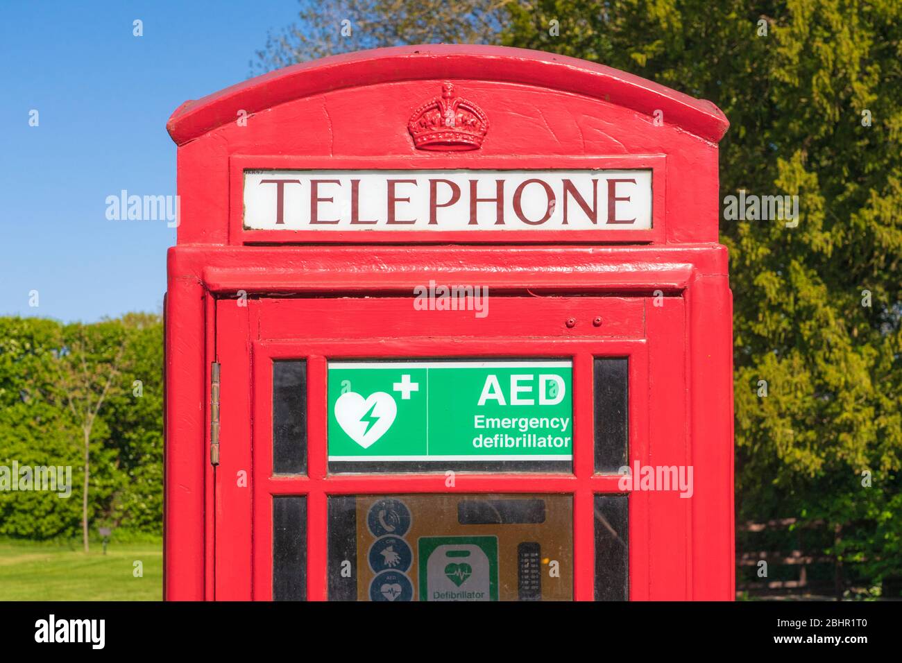
[[[307,362],[272,363],[272,474],[307,472]]]

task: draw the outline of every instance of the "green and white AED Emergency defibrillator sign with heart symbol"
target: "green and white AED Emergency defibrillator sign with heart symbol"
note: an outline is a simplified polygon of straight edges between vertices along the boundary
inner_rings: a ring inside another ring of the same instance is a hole
[[[570,461],[570,361],[329,362],[328,459]]]

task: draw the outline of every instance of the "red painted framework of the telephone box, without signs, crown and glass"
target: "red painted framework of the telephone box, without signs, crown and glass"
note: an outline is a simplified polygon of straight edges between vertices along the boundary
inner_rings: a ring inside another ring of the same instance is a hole
[[[448,79],[483,109],[488,133],[472,152],[417,150],[410,114]],[[240,110],[246,126],[235,122]],[[454,490],[573,494],[575,598],[591,600],[592,498],[620,492],[619,477],[592,472],[589,387],[601,353],[630,356],[630,463],[695,470],[691,500],[630,493],[630,598],[732,599],[732,303],[717,244],[716,143],[726,128],[712,104],[623,72],[479,46],[337,56],[181,106],[169,124],[181,214],[165,305],[166,598],[272,598],[272,496],[302,494],[308,598],[322,600],[327,494],[446,490],[434,474],[327,475],[327,356],[551,354],[575,361],[574,474],[459,473]],[[440,240],[245,231],[245,168],[650,168],[653,228]],[[488,286],[489,317],[412,315],[412,289],[430,279]],[[575,327],[562,324],[568,317]],[[223,364],[216,472],[214,356]],[[308,476],[272,477],[272,358],[295,356],[308,358]],[[239,489],[244,465],[251,481]]]

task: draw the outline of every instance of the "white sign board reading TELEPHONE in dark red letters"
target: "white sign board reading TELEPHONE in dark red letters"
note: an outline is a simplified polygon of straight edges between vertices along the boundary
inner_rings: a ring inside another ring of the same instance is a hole
[[[648,230],[651,170],[245,170],[244,228]]]

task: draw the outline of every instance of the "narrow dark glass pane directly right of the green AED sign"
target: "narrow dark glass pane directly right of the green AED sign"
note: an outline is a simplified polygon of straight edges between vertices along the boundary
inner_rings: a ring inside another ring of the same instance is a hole
[[[628,457],[629,360],[596,358],[594,383],[595,472],[616,473]]]

